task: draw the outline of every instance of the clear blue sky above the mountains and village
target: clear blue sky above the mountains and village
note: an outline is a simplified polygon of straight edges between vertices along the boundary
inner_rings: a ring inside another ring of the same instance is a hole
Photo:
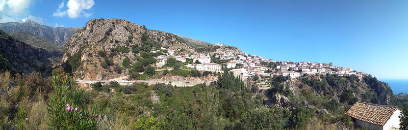
[[[0,11],[20,21],[82,27],[93,18],[120,18],[274,60],[333,62],[379,79],[408,79],[406,7],[408,1],[0,0]]]

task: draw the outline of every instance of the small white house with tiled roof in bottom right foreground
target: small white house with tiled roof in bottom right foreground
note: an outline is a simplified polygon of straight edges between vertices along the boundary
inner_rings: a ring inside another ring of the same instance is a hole
[[[401,110],[397,106],[356,102],[346,114],[355,119],[357,126],[368,129],[398,129],[401,123],[398,118]]]

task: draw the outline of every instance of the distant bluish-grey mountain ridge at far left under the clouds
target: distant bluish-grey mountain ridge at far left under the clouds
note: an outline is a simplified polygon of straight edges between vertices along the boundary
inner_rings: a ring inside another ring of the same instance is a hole
[[[29,32],[30,34],[44,37],[48,41],[58,46],[64,46],[77,28],[78,27],[50,27],[37,24],[30,20],[22,23],[0,23],[0,29],[5,31],[7,34],[11,34],[13,32]]]

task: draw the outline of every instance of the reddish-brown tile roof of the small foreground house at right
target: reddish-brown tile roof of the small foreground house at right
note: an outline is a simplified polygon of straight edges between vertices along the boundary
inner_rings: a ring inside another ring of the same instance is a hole
[[[361,121],[376,125],[384,125],[397,109],[397,106],[356,102],[346,114]]]

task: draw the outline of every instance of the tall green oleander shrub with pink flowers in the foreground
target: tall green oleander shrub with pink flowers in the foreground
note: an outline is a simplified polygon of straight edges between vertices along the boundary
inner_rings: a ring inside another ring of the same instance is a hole
[[[67,77],[68,78],[68,77]],[[92,116],[85,111],[79,100],[82,99],[84,90],[74,90],[68,93],[69,80],[62,80],[59,83],[58,77],[53,76],[54,92],[48,99],[48,129],[96,129],[97,119],[96,106],[94,107]],[[77,108],[80,107],[80,108]]]

